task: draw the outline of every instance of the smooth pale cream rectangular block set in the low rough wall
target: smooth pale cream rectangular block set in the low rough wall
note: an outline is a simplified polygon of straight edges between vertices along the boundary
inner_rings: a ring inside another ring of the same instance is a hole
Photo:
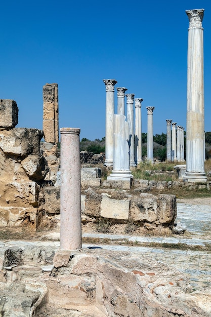
[[[103,195],[100,216],[128,220],[130,200],[115,200]]]

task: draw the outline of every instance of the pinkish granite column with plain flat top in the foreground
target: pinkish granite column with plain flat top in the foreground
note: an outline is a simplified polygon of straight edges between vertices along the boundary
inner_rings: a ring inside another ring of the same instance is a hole
[[[63,250],[81,248],[80,129],[62,128],[61,133],[61,229]]]

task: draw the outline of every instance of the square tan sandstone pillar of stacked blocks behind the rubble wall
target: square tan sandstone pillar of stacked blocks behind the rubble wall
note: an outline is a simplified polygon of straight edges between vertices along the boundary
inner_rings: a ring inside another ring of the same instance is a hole
[[[46,142],[59,142],[58,84],[43,86],[43,131]]]

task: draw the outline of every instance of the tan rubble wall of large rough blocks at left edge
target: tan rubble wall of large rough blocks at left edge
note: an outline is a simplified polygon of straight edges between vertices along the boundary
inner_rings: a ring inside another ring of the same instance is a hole
[[[0,226],[38,225],[40,182],[48,163],[40,154],[43,131],[15,128],[18,107],[14,100],[0,100]]]

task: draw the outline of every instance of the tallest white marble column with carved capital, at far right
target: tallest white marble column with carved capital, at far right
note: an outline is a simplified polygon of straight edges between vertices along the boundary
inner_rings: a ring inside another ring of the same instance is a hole
[[[187,71],[187,131],[186,179],[206,182],[204,171],[204,83],[203,28],[204,9],[187,10],[188,71]]]

